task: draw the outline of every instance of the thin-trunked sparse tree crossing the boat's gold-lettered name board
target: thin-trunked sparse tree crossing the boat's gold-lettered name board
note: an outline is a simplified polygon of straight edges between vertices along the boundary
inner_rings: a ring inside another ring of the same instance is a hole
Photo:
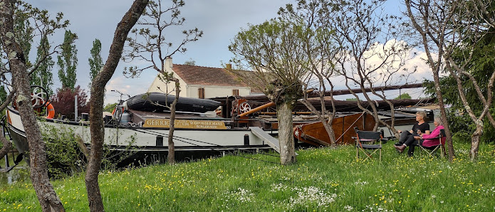
[[[175,163],[174,150],[174,120],[175,120],[175,105],[179,100],[180,84],[179,79],[174,78],[173,73],[167,73],[165,69],[165,60],[171,58],[175,53],[185,53],[187,48],[184,46],[187,43],[197,41],[203,36],[203,31],[198,28],[183,30],[184,38],[179,45],[174,46],[174,43],[167,41],[166,32],[173,26],[182,26],[186,20],[180,15],[180,8],[185,3],[182,0],[172,0],[172,6],[166,7],[162,4],[162,0],[150,1],[146,11],[142,14],[142,19],[137,23],[140,28],[132,29],[133,36],[127,38],[128,48],[125,52],[125,61],[134,59],[145,60],[152,65],[145,68],[130,67],[124,71],[125,75],[137,77],[142,70],[152,68],[156,70],[160,79],[165,83],[174,83],[175,99],[171,105],[164,105],[170,109],[170,128],[168,134],[168,155],[167,161],[170,164]],[[169,16],[170,15],[170,16]],[[172,65],[172,64],[170,64]],[[168,91],[165,91],[168,92]],[[171,91],[172,92],[172,91]]]

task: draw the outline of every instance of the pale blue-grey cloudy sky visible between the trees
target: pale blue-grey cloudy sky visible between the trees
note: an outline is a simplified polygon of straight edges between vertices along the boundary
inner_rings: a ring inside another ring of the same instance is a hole
[[[75,46],[78,49],[78,80],[76,85],[81,85],[82,88],[88,90],[88,83],[90,82],[88,58],[90,57],[93,41],[95,38],[101,41],[101,55],[103,63],[105,63],[115,27],[123,14],[129,9],[132,1],[36,0],[27,2],[39,9],[47,9],[52,16],[62,12],[64,18],[71,21],[68,30],[78,35],[78,40],[75,41]],[[199,41],[189,43],[186,46],[186,53],[173,55],[173,63],[183,64],[187,60],[194,60],[196,65],[214,68],[222,67],[222,63],[227,63],[233,56],[227,47],[236,33],[241,31],[241,28],[247,28],[248,23],[259,24],[270,18],[275,18],[278,9],[288,3],[290,1],[287,0],[186,0],[185,6],[180,9],[182,16],[186,18],[185,24],[173,30],[177,32],[197,27],[204,32],[204,35],[199,38]],[[397,7],[397,5],[392,5],[390,10],[397,11]],[[172,43],[173,41],[179,41],[177,38],[174,39],[174,31],[168,34],[172,37]],[[63,41],[63,31],[58,31],[50,40],[52,43],[61,43]],[[33,46],[37,46],[36,43],[39,43],[39,41],[34,41]],[[54,45],[52,44],[52,46]],[[36,57],[36,52],[30,55],[31,57]],[[417,80],[429,78],[429,69],[420,59],[421,55],[422,52],[418,51],[417,58],[407,62],[409,67],[418,66],[418,72],[414,76]],[[105,104],[117,102],[119,98],[118,93],[111,92],[111,90],[118,90],[130,96],[147,91],[157,72],[155,70],[145,70],[139,78],[125,78],[123,69],[135,64],[139,64],[139,62],[124,63],[120,61],[113,78],[111,78],[106,87]],[[57,71],[58,67],[55,65],[53,67],[54,90],[61,87]],[[393,92],[391,95],[398,95],[399,91],[396,91],[396,93]],[[421,90],[412,90],[410,93],[412,97],[419,97],[422,92]]]

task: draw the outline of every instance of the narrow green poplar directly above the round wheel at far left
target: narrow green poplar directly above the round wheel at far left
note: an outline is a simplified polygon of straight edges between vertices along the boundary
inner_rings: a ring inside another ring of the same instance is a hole
[[[55,62],[48,55],[50,52],[50,43],[46,36],[41,37],[40,46],[38,46],[38,55],[36,57],[36,63],[39,62],[39,68],[31,73],[31,85],[40,85],[45,88],[48,95],[53,93],[51,86],[53,85],[53,73],[51,70]]]

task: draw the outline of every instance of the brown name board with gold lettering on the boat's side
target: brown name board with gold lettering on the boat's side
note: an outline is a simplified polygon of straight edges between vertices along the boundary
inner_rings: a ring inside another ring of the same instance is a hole
[[[224,122],[211,120],[175,120],[174,125],[177,129],[227,129]],[[170,120],[147,119],[142,127],[169,128]]]

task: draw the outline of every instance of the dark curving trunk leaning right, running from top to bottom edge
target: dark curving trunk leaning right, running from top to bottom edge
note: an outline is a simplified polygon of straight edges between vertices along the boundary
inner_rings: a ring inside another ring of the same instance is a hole
[[[105,139],[105,126],[103,125],[103,97],[105,85],[112,78],[115,68],[120,61],[127,34],[137,19],[145,10],[148,0],[136,0],[125,13],[115,29],[112,46],[108,59],[98,75],[93,79],[90,98],[90,132],[91,150],[88,161],[88,169],[85,176],[86,191],[88,192],[88,203],[90,211],[105,211],[101,198],[100,186],[98,185],[98,173],[103,159],[103,142]]]

